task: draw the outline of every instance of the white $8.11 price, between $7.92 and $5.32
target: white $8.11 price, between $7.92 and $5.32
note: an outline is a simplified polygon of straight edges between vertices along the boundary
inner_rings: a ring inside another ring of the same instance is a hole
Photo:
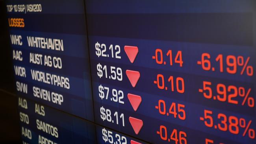
[[[116,111],[114,113],[114,118],[112,118],[112,114],[110,109],[105,109],[103,106],[100,107],[100,118],[105,121],[107,120],[108,122],[112,122],[112,123],[116,123],[117,125],[119,125],[119,121],[121,121],[122,126],[124,127],[124,114],[120,114]]]

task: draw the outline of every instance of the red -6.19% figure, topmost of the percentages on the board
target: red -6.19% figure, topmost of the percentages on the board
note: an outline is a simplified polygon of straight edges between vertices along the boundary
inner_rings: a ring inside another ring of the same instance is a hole
[[[227,55],[217,55],[216,58],[212,58],[210,54],[203,53],[201,60],[197,61],[197,65],[201,65],[203,70],[207,71],[219,71],[227,72],[228,74],[240,75],[246,74],[247,76],[253,76],[253,67],[249,65],[250,57]],[[214,67],[213,65],[217,65]]]

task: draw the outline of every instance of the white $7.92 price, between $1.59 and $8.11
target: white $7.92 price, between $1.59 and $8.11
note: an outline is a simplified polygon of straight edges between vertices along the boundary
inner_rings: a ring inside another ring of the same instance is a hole
[[[102,85],[99,85],[98,90],[99,90],[99,97],[102,100],[104,98],[108,100],[109,87],[103,87]],[[124,101],[122,101],[122,99],[124,98],[124,92],[122,92],[122,90],[116,90],[116,89],[112,89],[111,91],[112,91],[112,96],[110,96],[111,97],[110,100],[124,104]]]

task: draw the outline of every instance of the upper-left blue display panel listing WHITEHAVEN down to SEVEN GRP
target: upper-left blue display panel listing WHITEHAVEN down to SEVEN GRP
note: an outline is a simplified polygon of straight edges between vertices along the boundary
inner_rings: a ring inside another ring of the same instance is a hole
[[[7,0],[17,95],[93,121],[83,0]]]

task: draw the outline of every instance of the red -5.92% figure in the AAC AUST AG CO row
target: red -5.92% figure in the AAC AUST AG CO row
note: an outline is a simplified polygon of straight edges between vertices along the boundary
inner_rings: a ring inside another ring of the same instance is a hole
[[[250,96],[251,90],[251,88],[245,89],[245,87],[225,85],[223,83],[212,85],[210,81],[203,81],[203,88],[198,89],[199,92],[203,93],[204,98],[207,99],[254,107],[254,97]],[[239,100],[239,98],[242,100]]]

